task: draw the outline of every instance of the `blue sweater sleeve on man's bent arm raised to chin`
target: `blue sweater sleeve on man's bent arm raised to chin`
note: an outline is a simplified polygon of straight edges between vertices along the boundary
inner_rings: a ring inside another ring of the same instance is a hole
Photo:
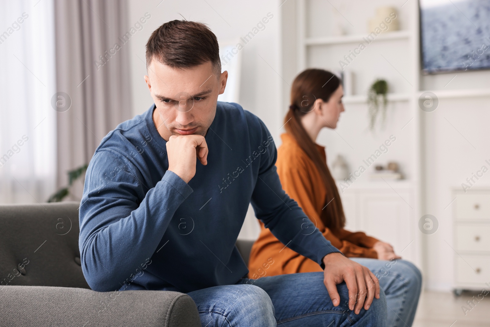
[[[79,210],[83,275],[100,292],[122,282],[156,251],[175,210],[193,192],[167,171],[145,195],[136,167],[113,151],[97,151],[87,168]]]

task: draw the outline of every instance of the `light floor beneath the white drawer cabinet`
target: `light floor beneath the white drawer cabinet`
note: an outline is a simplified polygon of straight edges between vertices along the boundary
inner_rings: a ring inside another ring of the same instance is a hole
[[[489,327],[490,293],[465,291],[459,297],[452,293],[424,291],[418,302],[413,327]],[[474,296],[474,298],[473,298]],[[466,301],[474,300],[471,308]],[[462,306],[470,311],[465,312]]]

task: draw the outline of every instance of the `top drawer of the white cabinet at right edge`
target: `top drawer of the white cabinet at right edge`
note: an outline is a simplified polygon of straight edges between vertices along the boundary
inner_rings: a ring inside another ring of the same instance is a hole
[[[457,220],[490,220],[490,194],[458,194],[456,196]]]

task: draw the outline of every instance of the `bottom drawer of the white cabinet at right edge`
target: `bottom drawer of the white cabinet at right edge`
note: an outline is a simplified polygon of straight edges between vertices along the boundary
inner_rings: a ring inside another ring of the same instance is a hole
[[[459,283],[485,283],[490,280],[490,255],[456,256],[456,281]],[[470,267],[471,266],[471,267]]]

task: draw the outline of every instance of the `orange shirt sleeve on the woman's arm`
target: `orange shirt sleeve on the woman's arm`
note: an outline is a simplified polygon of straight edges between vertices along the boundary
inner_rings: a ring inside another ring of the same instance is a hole
[[[313,181],[306,164],[302,162],[299,157],[296,156],[294,159],[294,166],[286,165],[281,167],[280,170],[282,187],[286,193],[298,203],[323,236],[345,256],[377,258],[377,253],[370,249],[372,245],[366,246],[360,243],[361,240],[366,240],[368,243],[371,239],[376,239],[368,237],[363,232],[352,233],[345,229],[342,229],[341,233],[336,235],[325,226],[316,209],[319,205],[317,205],[318,203],[313,202],[313,199],[315,199],[314,183],[318,183],[319,181]],[[363,235],[365,237],[363,237]],[[356,243],[357,241],[359,241],[359,243]]]

